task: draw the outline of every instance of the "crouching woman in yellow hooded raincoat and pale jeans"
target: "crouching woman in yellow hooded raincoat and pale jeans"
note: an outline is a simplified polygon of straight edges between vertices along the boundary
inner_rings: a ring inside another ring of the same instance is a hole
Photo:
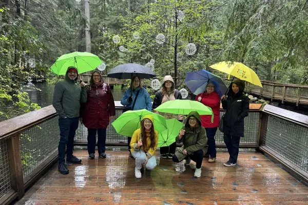
[[[156,167],[155,151],[158,145],[158,133],[154,130],[152,115],[145,115],[140,122],[140,128],[134,131],[130,141],[130,152],[136,159],[135,176],[141,178],[140,169],[143,165],[147,170]]]

